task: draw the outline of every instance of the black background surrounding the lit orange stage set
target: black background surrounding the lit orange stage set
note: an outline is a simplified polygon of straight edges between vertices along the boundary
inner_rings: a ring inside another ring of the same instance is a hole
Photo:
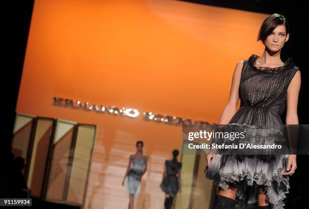
[[[87,0],[85,0],[87,1]],[[128,0],[129,1],[129,0]],[[290,24],[290,38],[281,52],[281,58],[285,61],[292,56],[295,65],[301,72],[301,90],[298,100],[298,119],[299,124],[308,123],[308,97],[307,89],[307,67],[308,67],[308,11],[305,1],[185,1],[194,4],[204,4],[217,7],[232,8],[258,13],[273,14],[279,13],[286,17]],[[10,141],[15,120],[15,109],[17,96],[22,75],[31,15],[34,0],[7,1],[2,2],[3,15],[3,52],[5,58],[2,62],[2,84],[3,84],[3,113],[5,123],[1,148],[9,151]],[[112,21],[112,20],[111,20]],[[43,69],[42,69],[43,70]],[[39,78],[38,78],[39,79]],[[37,95],[39,96],[39,95]],[[30,98],[31,99],[31,98]],[[39,104],[38,104],[39,105]],[[285,121],[285,113],[282,114],[282,121]],[[308,136],[309,137],[309,136]],[[309,140],[309,138],[308,138]],[[3,153],[3,151],[2,151]],[[5,160],[2,158],[2,160]],[[308,156],[297,156],[297,169],[295,174],[290,176],[290,190],[284,200],[285,208],[309,208],[308,202],[308,171],[306,170],[309,162]]]

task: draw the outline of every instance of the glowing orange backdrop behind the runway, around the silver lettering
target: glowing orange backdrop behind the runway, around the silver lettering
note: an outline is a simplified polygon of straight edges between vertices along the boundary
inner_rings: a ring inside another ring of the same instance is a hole
[[[16,111],[98,125],[85,208],[127,207],[121,182],[144,141],[148,170],[135,201],[162,208],[164,161],[181,149],[181,126],[142,112],[218,122],[236,63],[264,50],[256,36],[266,17],[181,1],[35,0]],[[54,96],[141,115],[58,107]]]

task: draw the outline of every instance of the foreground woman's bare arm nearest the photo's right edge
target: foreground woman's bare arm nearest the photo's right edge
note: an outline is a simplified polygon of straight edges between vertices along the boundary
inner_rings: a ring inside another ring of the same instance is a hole
[[[300,83],[301,83],[300,71],[297,71],[287,89],[286,119],[285,119],[285,123],[287,125],[288,124],[299,124],[298,116],[297,116],[297,103],[298,103],[298,95],[299,95],[299,90],[300,90]],[[297,148],[296,147],[297,145],[295,144],[297,143],[297,140],[295,140],[297,136],[290,135],[291,133],[289,132],[289,127],[287,127],[287,131],[288,131],[289,140],[291,140],[291,138],[294,138],[294,140],[290,141],[291,147]],[[293,132],[293,134],[297,134],[297,133]],[[297,168],[296,155],[289,155],[288,165],[287,165],[287,171],[289,172],[284,172],[283,175],[293,174],[296,168]]]

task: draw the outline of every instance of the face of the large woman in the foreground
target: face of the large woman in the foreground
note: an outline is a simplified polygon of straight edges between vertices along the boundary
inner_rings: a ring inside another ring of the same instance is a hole
[[[271,51],[279,51],[288,39],[289,34],[286,34],[285,26],[278,25],[265,40],[265,46]]]

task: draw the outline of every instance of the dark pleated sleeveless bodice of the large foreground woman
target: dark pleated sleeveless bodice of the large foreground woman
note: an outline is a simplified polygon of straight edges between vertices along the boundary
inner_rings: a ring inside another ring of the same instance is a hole
[[[243,61],[239,84],[240,108],[230,123],[263,125],[282,124],[288,86],[298,70],[290,57],[279,67],[256,67],[259,56],[252,54]]]

